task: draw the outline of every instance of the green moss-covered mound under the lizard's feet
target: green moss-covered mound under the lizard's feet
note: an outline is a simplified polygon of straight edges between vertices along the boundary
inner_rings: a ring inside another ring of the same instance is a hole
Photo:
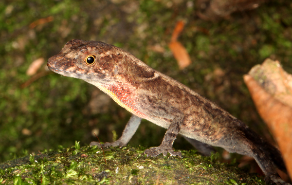
[[[30,155],[0,165],[0,182],[8,184],[190,184],[264,185],[262,179],[220,163],[218,154],[202,157],[183,151],[183,157],[146,157],[144,149],[82,147]],[[79,149],[77,149],[79,148]],[[29,160],[26,160],[28,159]]]

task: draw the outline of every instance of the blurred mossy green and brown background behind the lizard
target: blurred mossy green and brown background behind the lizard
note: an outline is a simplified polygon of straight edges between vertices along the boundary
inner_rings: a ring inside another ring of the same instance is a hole
[[[128,111],[85,81],[46,67],[73,38],[123,48],[274,143],[242,75],[267,57],[292,73],[292,2],[261,0],[218,14],[208,5],[208,0],[1,0],[0,162],[75,141],[89,145],[96,141],[94,132],[102,142],[121,136]],[[175,39],[191,61],[185,67],[169,48],[178,22],[184,27]],[[143,120],[129,145],[158,146],[165,131]],[[174,148],[192,149],[182,137]]]

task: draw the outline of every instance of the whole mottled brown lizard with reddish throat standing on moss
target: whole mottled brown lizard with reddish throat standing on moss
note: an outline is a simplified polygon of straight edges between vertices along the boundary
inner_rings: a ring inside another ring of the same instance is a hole
[[[180,133],[201,151],[207,149],[205,154],[212,150],[207,147],[211,145],[249,155],[263,170],[266,182],[289,185],[274,168],[286,171],[278,149],[215,103],[118,47],[73,39],[49,58],[47,65],[55,73],[95,85],[132,113],[121,138],[105,147],[126,146],[141,119],[146,119],[167,129],[159,147],[145,150],[147,156],[168,152],[181,157],[181,152],[172,148]]]

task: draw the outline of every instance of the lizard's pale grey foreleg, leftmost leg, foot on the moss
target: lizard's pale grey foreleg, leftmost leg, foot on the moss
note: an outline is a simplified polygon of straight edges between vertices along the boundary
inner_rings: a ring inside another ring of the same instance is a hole
[[[124,131],[123,131],[123,134],[122,136],[112,142],[112,143],[105,143],[105,144],[102,144],[102,147],[109,147],[109,146],[112,146],[112,147],[124,147],[127,145],[127,143],[130,141],[130,139],[132,138],[132,136],[134,135],[134,133],[136,132],[136,130],[138,129],[140,123],[141,123],[141,119],[140,117],[132,114],[130,120],[128,121]],[[90,146],[94,146],[94,145],[97,145],[98,147],[100,147],[100,144],[98,142],[95,142],[95,141],[92,141],[90,143]]]

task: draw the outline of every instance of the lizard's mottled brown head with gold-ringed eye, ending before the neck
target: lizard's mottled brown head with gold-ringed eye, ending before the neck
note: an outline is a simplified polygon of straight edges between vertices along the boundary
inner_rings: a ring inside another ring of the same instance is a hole
[[[47,66],[57,74],[85,81],[110,81],[123,50],[100,41],[73,39],[49,58]]]

